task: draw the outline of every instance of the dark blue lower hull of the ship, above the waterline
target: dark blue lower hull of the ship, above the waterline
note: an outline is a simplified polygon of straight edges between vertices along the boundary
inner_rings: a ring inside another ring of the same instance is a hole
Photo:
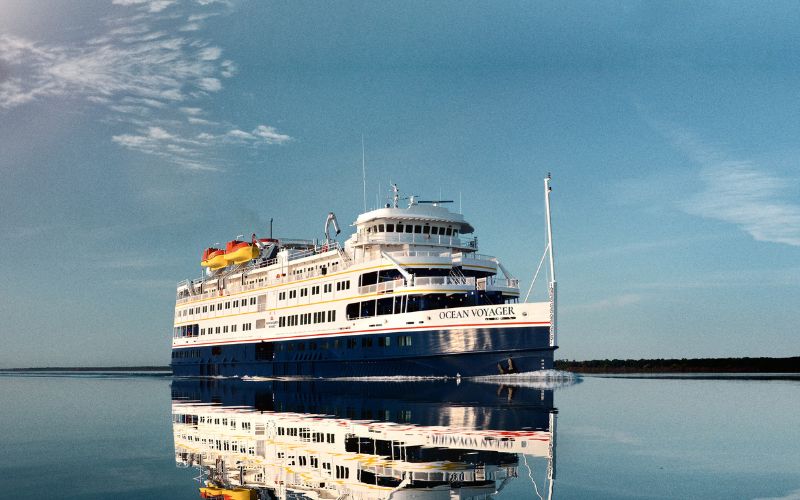
[[[553,368],[549,328],[466,328],[337,335],[173,349],[179,377],[497,375]]]

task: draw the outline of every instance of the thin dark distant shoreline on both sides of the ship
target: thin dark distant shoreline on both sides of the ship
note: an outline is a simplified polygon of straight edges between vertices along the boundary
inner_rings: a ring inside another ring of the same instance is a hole
[[[800,373],[800,356],[789,358],[595,359],[556,360],[557,370],[573,373]],[[169,366],[50,366],[0,368],[0,372],[160,372]]]

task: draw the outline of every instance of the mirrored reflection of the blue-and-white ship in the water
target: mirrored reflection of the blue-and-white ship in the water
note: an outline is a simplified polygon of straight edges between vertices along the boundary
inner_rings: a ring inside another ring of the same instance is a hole
[[[172,399],[175,459],[199,470],[203,498],[473,499],[517,487],[553,494],[551,389],[174,380]]]

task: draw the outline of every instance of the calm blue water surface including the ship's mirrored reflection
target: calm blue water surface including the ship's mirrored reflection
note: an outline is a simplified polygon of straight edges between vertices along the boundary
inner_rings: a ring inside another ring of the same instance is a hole
[[[798,381],[5,374],[0,424],[14,498],[800,498]]]

